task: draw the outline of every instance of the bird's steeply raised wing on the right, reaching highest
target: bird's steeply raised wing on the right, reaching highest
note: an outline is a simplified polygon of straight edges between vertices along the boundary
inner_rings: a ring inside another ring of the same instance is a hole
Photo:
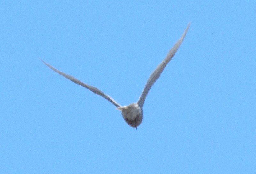
[[[187,34],[187,31],[189,29],[189,25],[188,24],[187,28],[185,29],[184,33],[182,34],[182,36],[180,37],[180,39],[175,43],[175,45],[173,46],[172,49],[170,49],[170,51],[168,52],[168,54],[166,55],[165,59],[156,67],[156,69],[151,73],[151,75],[149,76],[149,79],[141,93],[141,96],[138,100],[138,105],[142,108],[145,98],[148,95],[148,92],[150,90],[150,88],[152,87],[152,85],[155,83],[155,81],[159,78],[160,74],[163,72],[164,68],[166,67],[166,65],[170,62],[170,60],[173,58],[173,56],[175,55],[176,51],[178,50],[179,46],[181,45],[185,35]]]

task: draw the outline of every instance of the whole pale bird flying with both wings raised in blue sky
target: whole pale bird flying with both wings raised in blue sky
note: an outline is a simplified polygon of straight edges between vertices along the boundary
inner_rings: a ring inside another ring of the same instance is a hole
[[[50,69],[52,69],[53,71],[59,73],[60,75],[64,76],[65,78],[73,81],[74,83],[81,85],[82,87],[85,87],[87,89],[89,89],[90,91],[94,92],[97,95],[102,96],[103,98],[107,99],[109,102],[111,102],[113,105],[115,105],[115,107],[121,111],[122,113],[122,117],[123,119],[126,121],[126,123],[128,125],[130,125],[133,128],[136,128],[141,124],[142,119],[143,119],[143,105],[144,105],[144,101],[146,99],[146,96],[148,95],[148,92],[150,90],[150,88],[153,86],[153,84],[156,82],[156,80],[160,77],[161,73],[163,72],[164,68],[166,67],[166,65],[170,62],[170,60],[174,57],[175,53],[177,52],[178,48],[180,47],[183,39],[185,38],[188,29],[189,29],[190,23],[187,25],[185,31],[183,32],[182,36],[179,38],[179,40],[174,44],[174,46],[169,50],[169,52],[167,53],[166,57],[164,58],[164,60],[155,68],[155,70],[151,73],[151,75],[149,76],[146,85],[138,99],[138,101],[136,103],[131,103],[127,106],[121,106],[120,104],[118,104],[112,97],[110,97],[109,95],[103,93],[101,90],[99,90],[96,87],[93,87],[91,85],[88,85],[86,83],[81,82],[80,80],[74,78],[71,75],[68,75],[64,72],[61,72],[59,70],[57,70],[56,68],[54,68],[53,66],[51,66],[50,64],[44,62],[42,60],[42,62],[47,65]]]

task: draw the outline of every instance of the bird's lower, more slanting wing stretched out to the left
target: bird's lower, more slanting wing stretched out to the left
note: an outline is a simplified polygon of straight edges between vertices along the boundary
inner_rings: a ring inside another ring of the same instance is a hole
[[[115,105],[116,107],[120,107],[120,106],[121,106],[121,105],[118,104],[114,99],[112,99],[112,97],[106,95],[105,93],[103,93],[103,92],[102,92],[101,90],[99,90],[98,88],[93,87],[93,86],[90,86],[90,85],[87,85],[87,84],[85,84],[85,83],[79,81],[78,79],[76,79],[76,78],[74,78],[74,77],[72,77],[72,76],[70,76],[70,75],[68,75],[68,74],[65,74],[64,72],[61,72],[61,71],[55,69],[54,67],[52,67],[50,64],[47,64],[47,63],[44,62],[43,60],[42,60],[42,62],[43,62],[44,64],[46,64],[46,65],[47,65],[50,69],[52,69],[53,71],[58,72],[60,75],[66,77],[67,79],[73,81],[74,83],[76,83],[76,84],[78,84],[78,85],[81,85],[81,86],[83,86],[83,87],[86,87],[87,89],[91,90],[91,91],[94,92],[95,94],[104,97],[105,99],[107,99],[108,101],[110,101],[110,102],[111,102],[113,105]]]

